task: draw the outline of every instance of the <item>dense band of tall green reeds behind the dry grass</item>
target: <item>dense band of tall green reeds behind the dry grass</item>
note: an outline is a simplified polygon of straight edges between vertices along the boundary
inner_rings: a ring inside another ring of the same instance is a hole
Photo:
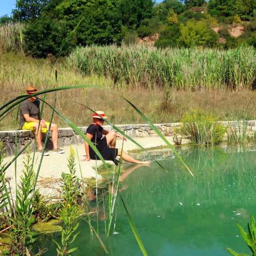
[[[256,70],[255,50],[148,49],[143,46],[77,47],[68,58],[84,75],[96,74],[135,86],[182,90],[249,89]]]

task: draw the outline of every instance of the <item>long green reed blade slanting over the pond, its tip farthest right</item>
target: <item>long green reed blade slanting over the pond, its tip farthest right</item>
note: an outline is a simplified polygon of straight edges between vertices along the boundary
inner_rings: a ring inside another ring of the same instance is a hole
[[[147,122],[148,125],[152,127],[152,129],[156,132],[156,134],[172,149],[175,156],[181,161],[181,163],[185,166],[185,168],[188,170],[188,172],[194,177],[194,174],[191,172],[191,170],[188,168],[188,166],[184,163],[183,159],[180,157],[180,155],[176,152],[174,146],[169,143],[169,141],[162,135],[162,133],[157,129],[157,127],[148,119],[132,102],[122,97],[124,100],[126,100],[134,109],[135,111]]]

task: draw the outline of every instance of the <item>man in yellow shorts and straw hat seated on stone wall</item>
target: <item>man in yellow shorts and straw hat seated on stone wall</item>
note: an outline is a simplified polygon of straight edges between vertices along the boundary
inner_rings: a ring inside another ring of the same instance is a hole
[[[26,92],[28,95],[38,92],[33,85],[27,87]],[[33,131],[37,143],[37,152],[42,155],[42,134],[46,134],[49,130],[49,122],[46,122],[41,118],[40,120],[40,101],[36,97],[31,97],[22,102],[19,109],[19,127],[22,130]],[[52,143],[53,143],[53,153],[62,154],[61,148],[58,148],[58,127],[57,124],[52,123]],[[49,156],[49,152],[46,150],[44,156]]]

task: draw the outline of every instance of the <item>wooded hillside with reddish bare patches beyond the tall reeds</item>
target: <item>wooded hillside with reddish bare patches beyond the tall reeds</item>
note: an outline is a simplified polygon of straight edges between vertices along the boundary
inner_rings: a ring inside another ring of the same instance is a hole
[[[17,0],[16,6],[0,18],[0,26],[11,23],[0,29],[2,52],[65,56],[76,46],[138,41],[159,48],[256,46],[254,0]]]

